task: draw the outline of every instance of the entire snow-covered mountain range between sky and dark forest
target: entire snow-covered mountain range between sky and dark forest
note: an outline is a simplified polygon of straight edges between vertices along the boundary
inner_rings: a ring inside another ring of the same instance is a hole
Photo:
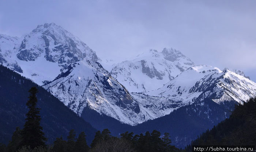
[[[100,62],[85,43],[54,23],[38,25],[22,38],[0,35],[0,63],[42,85],[78,115],[88,106],[136,125],[194,100],[242,102],[256,92],[241,71],[195,66],[172,48],[145,52],[110,73]]]

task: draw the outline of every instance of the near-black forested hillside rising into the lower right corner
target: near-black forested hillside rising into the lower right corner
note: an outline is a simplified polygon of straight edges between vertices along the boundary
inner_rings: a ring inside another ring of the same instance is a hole
[[[256,98],[236,105],[228,119],[192,141],[187,151],[192,145],[256,145]]]

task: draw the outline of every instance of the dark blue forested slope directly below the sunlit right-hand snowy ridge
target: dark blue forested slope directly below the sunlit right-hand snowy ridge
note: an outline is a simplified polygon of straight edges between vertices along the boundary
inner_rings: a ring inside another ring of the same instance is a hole
[[[148,120],[133,127],[131,131],[169,132],[172,144],[184,148],[196,139],[197,135],[212,128],[230,115],[236,101],[225,101],[217,104],[211,99],[195,101],[193,104],[180,107],[169,115]]]

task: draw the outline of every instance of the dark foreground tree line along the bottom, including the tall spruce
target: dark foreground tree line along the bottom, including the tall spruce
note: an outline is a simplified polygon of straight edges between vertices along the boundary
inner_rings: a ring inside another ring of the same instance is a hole
[[[40,125],[40,109],[37,108],[37,88],[29,90],[29,109],[23,129],[16,128],[8,145],[0,144],[1,152],[176,152],[180,149],[170,145],[169,133],[161,135],[159,131],[152,131],[134,135],[133,132],[121,133],[120,137],[111,135],[108,129],[95,133],[92,143],[87,145],[84,132],[76,138],[74,129],[69,131],[67,140],[57,137],[53,144],[46,144],[46,137]]]

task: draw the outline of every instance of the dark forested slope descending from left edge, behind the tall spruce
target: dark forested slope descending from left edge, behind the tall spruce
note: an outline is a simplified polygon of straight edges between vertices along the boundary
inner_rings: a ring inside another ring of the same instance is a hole
[[[41,125],[48,143],[52,143],[56,137],[67,137],[71,129],[75,129],[77,133],[84,131],[89,143],[93,140],[97,130],[44,88],[2,65],[0,65],[0,76],[0,143],[7,144],[15,128],[23,128],[27,113],[28,90],[31,87],[38,89]]]

